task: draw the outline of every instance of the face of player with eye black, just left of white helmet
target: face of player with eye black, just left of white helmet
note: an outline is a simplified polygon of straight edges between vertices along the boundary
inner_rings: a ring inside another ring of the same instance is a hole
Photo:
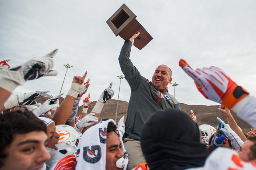
[[[58,150],[58,148],[55,146],[55,144],[60,140],[59,139],[60,135],[56,132],[55,123],[53,122],[50,125],[48,125],[46,131],[47,131],[46,134],[48,137],[47,147]]]

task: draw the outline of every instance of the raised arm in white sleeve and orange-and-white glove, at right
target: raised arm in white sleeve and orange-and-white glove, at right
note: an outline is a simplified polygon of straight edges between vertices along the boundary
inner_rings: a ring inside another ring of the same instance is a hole
[[[179,64],[194,79],[198,91],[206,99],[221,103],[252,127],[256,127],[256,98],[232,81],[222,69],[211,66],[195,71],[184,59]]]

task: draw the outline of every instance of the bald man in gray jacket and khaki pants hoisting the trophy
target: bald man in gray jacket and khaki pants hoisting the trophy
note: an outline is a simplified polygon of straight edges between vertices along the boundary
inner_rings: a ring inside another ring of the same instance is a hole
[[[140,148],[140,130],[146,119],[159,110],[180,109],[177,99],[167,90],[167,85],[172,81],[172,71],[168,66],[159,65],[152,76],[152,81],[149,81],[140,75],[129,59],[132,42],[139,34],[137,32],[129,41],[124,42],[118,58],[131,88],[124,133],[124,146],[129,158],[128,170],[145,162]]]

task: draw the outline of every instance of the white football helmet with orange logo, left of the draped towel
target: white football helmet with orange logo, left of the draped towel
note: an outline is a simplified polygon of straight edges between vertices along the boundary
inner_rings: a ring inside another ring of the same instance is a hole
[[[58,162],[67,155],[75,154],[77,145],[82,137],[82,133],[76,131],[69,125],[57,125],[56,132],[60,135],[60,140],[55,146],[58,148],[56,154],[46,162],[48,166]]]

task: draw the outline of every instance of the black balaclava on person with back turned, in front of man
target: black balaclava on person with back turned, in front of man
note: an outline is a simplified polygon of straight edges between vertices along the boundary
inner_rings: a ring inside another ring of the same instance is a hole
[[[183,170],[204,165],[206,144],[198,125],[183,111],[165,109],[144,123],[140,144],[150,170]]]

